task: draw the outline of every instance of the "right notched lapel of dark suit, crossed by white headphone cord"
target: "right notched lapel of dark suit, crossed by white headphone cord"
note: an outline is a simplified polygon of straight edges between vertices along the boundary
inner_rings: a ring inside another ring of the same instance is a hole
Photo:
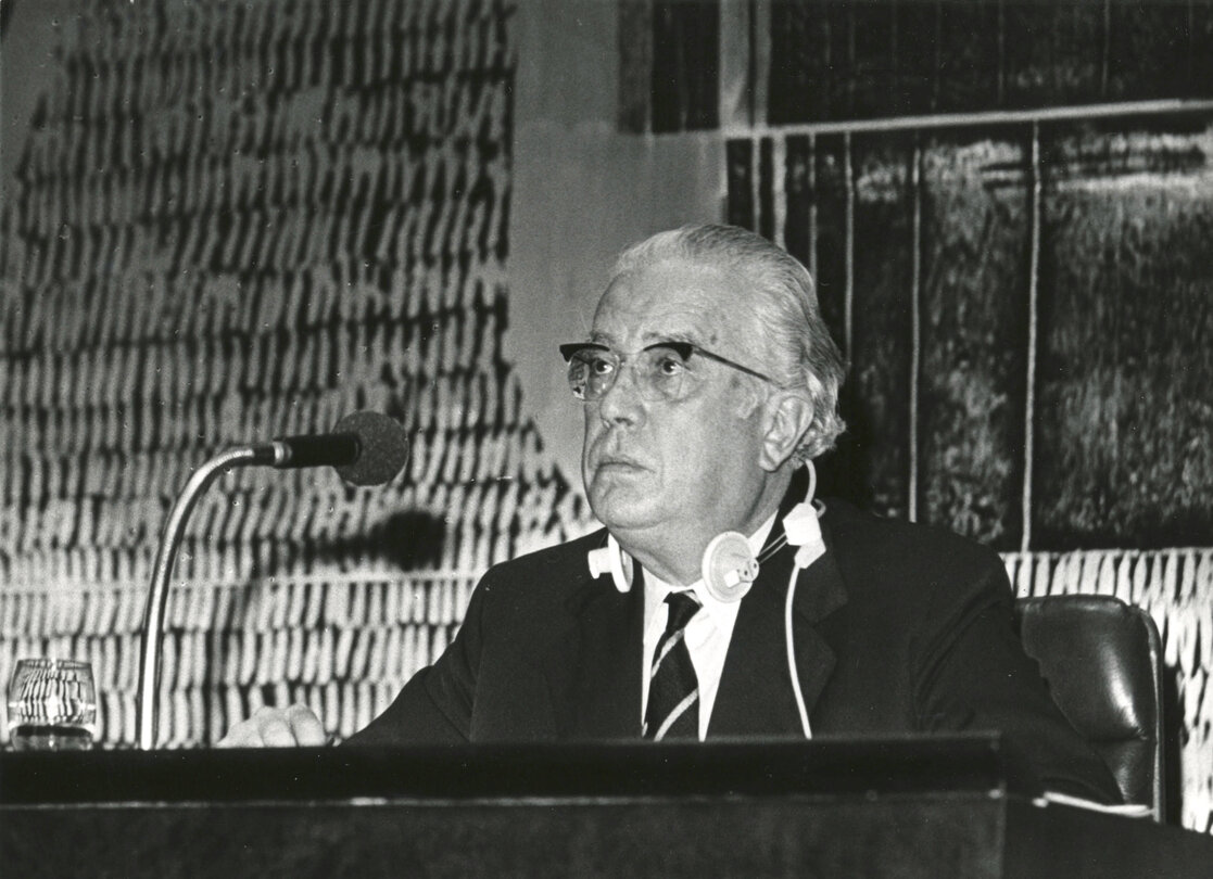
[[[828,536],[827,536],[828,546]],[[768,559],[741,600],[717,691],[708,736],[801,735],[787,673],[784,605],[795,549]],[[801,572],[792,632],[801,694],[810,717],[835,667],[835,652],[816,623],[847,603],[847,590],[827,552]]]

